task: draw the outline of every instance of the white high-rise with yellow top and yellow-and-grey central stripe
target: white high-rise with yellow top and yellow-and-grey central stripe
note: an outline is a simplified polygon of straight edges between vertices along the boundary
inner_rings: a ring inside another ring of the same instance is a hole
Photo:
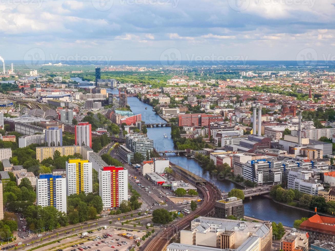
[[[70,159],[66,161],[66,195],[92,192],[92,162]]]

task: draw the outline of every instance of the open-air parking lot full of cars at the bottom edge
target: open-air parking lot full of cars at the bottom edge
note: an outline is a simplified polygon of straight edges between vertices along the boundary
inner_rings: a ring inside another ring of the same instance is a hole
[[[119,235],[123,234],[123,235]],[[81,239],[78,237],[78,244],[73,244],[71,247],[63,249],[64,251],[104,251],[104,250],[119,250],[126,251],[135,247],[135,250],[139,249],[136,246],[135,239],[140,239],[146,234],[146,231],[134,231],[134,230],[101,230],[89,233],[86,238]],[[128,236],[126,238],[125,236]],[[90,240],[88,240],[90,239]],[[141,241],[143,244],[143,241]],[[76,246],[77,245],[77,246]]]

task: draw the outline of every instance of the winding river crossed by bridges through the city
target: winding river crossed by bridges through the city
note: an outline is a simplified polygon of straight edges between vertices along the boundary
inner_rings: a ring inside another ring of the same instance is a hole
[[[118,93],[118,90],[109,89],[114,94]],[[164,123],[165,121],[159,117],[152,107],[142,101],[137,97],[128,97],[128,104],[131,110],[135,114],[142,114],[142,120],[146,123]],[[147,109],[145,109],[147,107]],[[164,134],[167,134],[167,138],[164,138]],[[175,149],[173,140],[171,138],[171,128],[170,127],[157,127],[148,128],[148,137],[154,140],[154,147],[156,150],[173,150]],[[175,163],[189,171],[205,178],[208,181],[214,183],[221,191],[228,192],[232,188],[238,187],[234,183],[227,180],[214,180],[209,175],[207,171],[203,171],[199,163],[194,159],[188,159],[185,156],[176,156],[175,154],[170,154],[167,156],[172,163]],[[284,226],[292,227],[293,222],[296,219],[302,217],[310,217],[312,214],[296,210],[287,206],[282,206],[271,199],[262,196],[255,196],[253,199],[246,198],[244,201],[244,211],[246,216],[254,217],[261,220],[269,220],[274,222],[281,222]]]

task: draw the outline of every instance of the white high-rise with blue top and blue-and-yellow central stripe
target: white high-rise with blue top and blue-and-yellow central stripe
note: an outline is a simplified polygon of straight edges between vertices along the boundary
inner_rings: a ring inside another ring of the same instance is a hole
[[[41,174],[36,177],[36,204],[53,206],[66,213],[66,179],[62,175]]]

